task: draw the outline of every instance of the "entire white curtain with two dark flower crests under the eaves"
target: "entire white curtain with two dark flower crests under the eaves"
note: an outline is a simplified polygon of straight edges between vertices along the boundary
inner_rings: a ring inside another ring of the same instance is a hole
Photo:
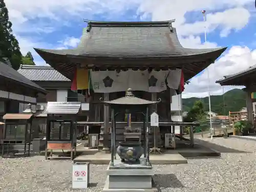
[[[95,93],[113,93],[126,91],[145,91],[159,93],[168,87],[177,90],[180,85],[181,69],[155,71],[91,71],[91,83]]]

